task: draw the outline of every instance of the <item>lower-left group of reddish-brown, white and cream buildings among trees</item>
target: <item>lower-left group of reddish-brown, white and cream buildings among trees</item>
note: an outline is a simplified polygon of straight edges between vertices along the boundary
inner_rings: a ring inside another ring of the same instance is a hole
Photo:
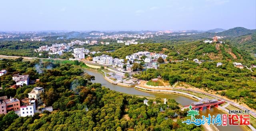
[[[0,97],[0,114],[7,114],[10,111],[15,111],[20,114],[21,117],[33,116],[36,113],[37,105],[42,104],[41,94],[44,92],[42,87],[34,87],[28,98],[19,100],[17,98],[8,99],[7,96]],[[46,108],[48,111],[52,111],[52,107]]]

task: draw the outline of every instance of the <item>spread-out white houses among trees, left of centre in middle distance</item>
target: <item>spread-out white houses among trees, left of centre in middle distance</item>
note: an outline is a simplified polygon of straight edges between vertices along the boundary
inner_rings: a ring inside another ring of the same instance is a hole
[[[62,55],[63,52],[70,51],[70,46],[68,46],[66,43],[61,43],[61,44],[52,44],[52,46],[41,46],[38,49],[35,49],[35,52],[49,52],[48,54],[58,54]],[[42,55],[42,54],[39,54]]]

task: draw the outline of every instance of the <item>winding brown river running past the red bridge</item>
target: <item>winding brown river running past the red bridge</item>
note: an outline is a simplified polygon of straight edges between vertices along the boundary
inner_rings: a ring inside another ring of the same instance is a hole
[[[81,68],[84,72],[94,75],[95,80],[92,81],[93,83],[101,83],[102,86],[108,87],[111,90],[131,94],[131,95],[143,95],[143,96],[151,96],[151,97],[161,97],[161,98],[167,98],[167,99],[175,99],[178,103],[181,105],[190,105],[192,102],[195,102],[193,99],[190,99],[189,97],[185,97],[182,95],[175,95],[175,94],[163,94],[163,93],[148,93],[144,91],[140,91],[137,89],[134,89],[134,87],[124,87],[120,85],[113,85],[112,83],[106,81],[103,77],[103,75],[97,71],[92,71],[89,69]],[[204,115],[208,117],[208,114],[211,116],[214,115],[215,117],[220,114],[224,114],[223,111],[212,107],[210,110],[204,109],[203,111],[199,111],[200,115]],[[216,124],[215,124],[216,125]],[[220,131],[244,131],[244,129],[241,126],[216,126]]]

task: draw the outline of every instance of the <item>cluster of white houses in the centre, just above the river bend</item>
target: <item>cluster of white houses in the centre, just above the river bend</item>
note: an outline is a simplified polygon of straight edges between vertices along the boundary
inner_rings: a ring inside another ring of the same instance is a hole
[[[102,56],[96,56],[93,57],[93,62],[97,62],[99,64],[106,64],[106,65],[113,65],[118,68],[118,70],[121,71],[132,71],[133,64],[131,63],[140,63],[139,60],[142,60],[142,56],[145,56],[144,62],[146,63],[152,63],[147,66],[147,68],[154,68],[157,69],[157,63],[154,62],[158,58],[162,57],[163,59],[166,59],[167,55],[164,54],[156,54],[156,53],[150,53],[150,52],[137,52],[132,55],[126,56],[127,63],[124,63],[124,59],[118,59],[118,58],[112,58],[108,55],[102,55]],[[126,70],[123,70],[124,65],[126,65]]]

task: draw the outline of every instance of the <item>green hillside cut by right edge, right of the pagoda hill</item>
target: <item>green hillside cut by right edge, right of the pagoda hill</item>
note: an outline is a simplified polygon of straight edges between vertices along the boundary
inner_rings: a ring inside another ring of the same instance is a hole
[[[232,46],[240,50],[245,50],[251,54],[256,54],[256,32],[246,36],[240,36],[230,40]]]

